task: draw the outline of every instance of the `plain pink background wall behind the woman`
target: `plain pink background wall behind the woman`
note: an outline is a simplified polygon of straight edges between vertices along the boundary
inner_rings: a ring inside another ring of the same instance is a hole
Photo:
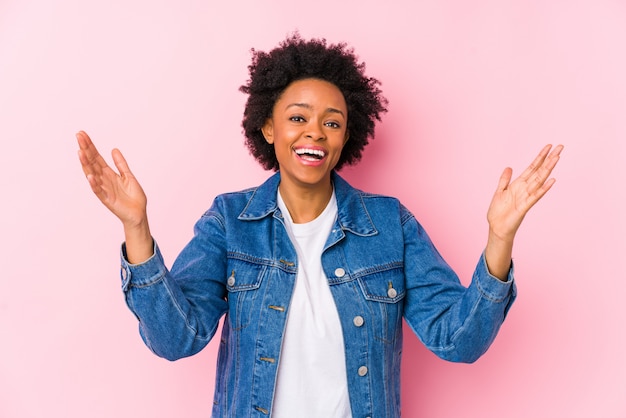
[[[213,4],[213,5],[212,5]],[[390,112],[354,185],[399,197],[467,283],[501,170],[565,152],[515,248],[519,299],[473,365],[406,334],[406,417],[625,417],[626,3],[618,0],[0,0],[0,417],[207,417],[217,344],[143,346],[118,221],[76,157],[120,147],[169,264],[242,144],[249,49],[347,41]]]

